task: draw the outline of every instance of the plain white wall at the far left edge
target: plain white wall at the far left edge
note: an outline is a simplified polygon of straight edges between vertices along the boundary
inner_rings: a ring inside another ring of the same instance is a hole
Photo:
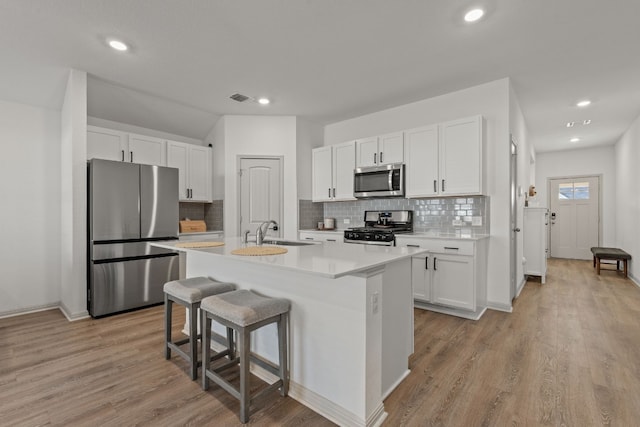
[[[0,316],[60,301],[60,112],[0,101]]]

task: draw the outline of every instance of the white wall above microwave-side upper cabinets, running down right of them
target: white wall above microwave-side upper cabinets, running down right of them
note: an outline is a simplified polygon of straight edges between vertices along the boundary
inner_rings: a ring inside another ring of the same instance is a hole
[[[481,114],[485,119],[487,191],[490,200],[487,299],[511,309],[509,275],[509,79],[471,87],[325,127],[324,145]]]

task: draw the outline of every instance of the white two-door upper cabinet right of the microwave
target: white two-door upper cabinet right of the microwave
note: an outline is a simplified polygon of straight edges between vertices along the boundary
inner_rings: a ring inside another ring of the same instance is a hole
[[[484,194],[482,117],[405,131],[407,197]]]

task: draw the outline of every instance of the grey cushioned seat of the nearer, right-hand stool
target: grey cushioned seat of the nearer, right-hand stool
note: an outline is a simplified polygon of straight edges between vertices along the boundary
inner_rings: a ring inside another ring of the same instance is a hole
[[[202,300],[202,310],[215,313],[235,325],[249,326],[289,311],[291,303],[284,298],[267,298],[240,289]]]

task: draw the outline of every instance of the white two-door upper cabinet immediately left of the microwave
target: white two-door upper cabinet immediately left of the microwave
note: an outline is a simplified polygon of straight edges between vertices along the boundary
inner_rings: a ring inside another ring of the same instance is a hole
[[[355,200],[354,168],[355,142],[315,148],[311,165],[313,201]]]

